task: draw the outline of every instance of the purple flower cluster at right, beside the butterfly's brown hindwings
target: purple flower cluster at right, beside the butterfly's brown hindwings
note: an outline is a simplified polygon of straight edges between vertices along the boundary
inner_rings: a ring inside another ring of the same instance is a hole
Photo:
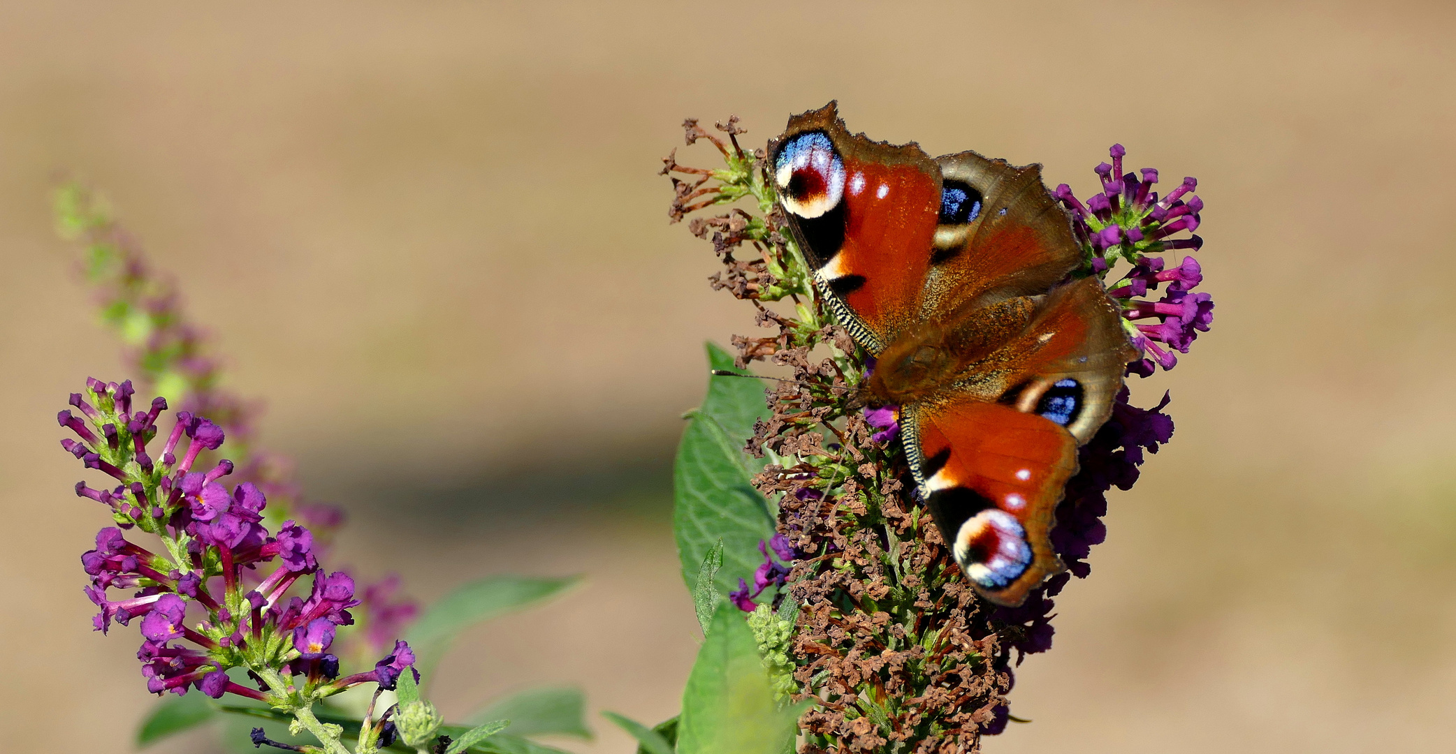
[[[1133,345],[1144,354],[1144,358],[1128,365],[1128,374],[1147,377],[1158,367],[1174,368],[1178,364],[1174,351],[1187,354],[1194,338],[1200,332],[1208,332],[1213,325],[1213,297],[1192,291],[1203,282],[1198,261],[1185,256],[1176,266],[1165,269],[1163,258],[1153,256],[1166,250],[1203,247],[1203,239],[1191,234],[1198,229],[1203,199],[1192,195],[1198,186],[1194,178],[1185,178],[1166,197],[1159,198],[1153,191],[1158,170],[1144,167],[1140,176],[1123,173],[1127,150],[1121,144],[1112,144],[1108,153],[1112,163],[1101,163],[1095,169],[1102,182],[1099,194],[1082,202],[1063,183],[1057,186],[1056,197],[1072,211],[1073,229],[1088,255],[1088,269],[1092,274],[1105,278],[1118,259],[1133,265],[1131,271],[1108,288],[1123,303]],[[1190,236],[1171,237],[1182,231]],[[1149,298],[1162,285],[1166,285],[1162,297]],[[1131,325],[1133,322],[1140,323]]]

